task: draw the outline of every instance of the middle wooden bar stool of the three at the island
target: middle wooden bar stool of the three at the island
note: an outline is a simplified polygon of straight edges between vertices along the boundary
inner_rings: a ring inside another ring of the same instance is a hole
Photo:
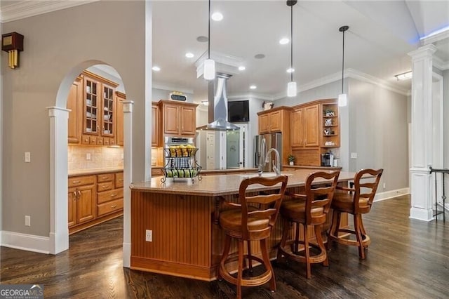
[[[278,260],[282,255],[288,260],[306,263],[306,277],[311,277],[311,264],[323,263],[328,266],[328,255],[321,237],[321,225],[326,222],[330,203],[333,199],[340,171],[318,171],[311,173],[306,180],[305,194],[288,194],[291,200],[283,201],[281,215],[284,218],[283,234],[278,249]],[[330,180],[323,185],[324,180]],[[321,185],[319,183],[321,182]],[[295,239],[287,240],[290,231],[290,222],[296,223]],[[300,225],[303,227],[304,238],[300,240]],[[316,236],[316,244],[309,240],[308,226],[313,225]],[[302,244],[304,248],[299,248]],[[310,248],[317,248],[319,253],[311,255]]]

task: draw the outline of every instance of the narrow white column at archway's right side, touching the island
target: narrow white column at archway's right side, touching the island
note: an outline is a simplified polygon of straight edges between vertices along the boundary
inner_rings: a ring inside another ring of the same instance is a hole
[[[131,265],[131,163],[133,153],[133,101],[123,101],[123,267]]]

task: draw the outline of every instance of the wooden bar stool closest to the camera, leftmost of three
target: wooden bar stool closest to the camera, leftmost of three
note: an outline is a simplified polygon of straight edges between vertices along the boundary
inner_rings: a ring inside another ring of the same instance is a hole
[[[276,280],[268,256],[266,239],[270,236],[272,227],[279,215],[279,208],[281,208],[283,195],[286,192],[287,180],[286,175],[279,175],[274,178],[246,178],[242,180],[239,188],[240,204],[225,202],[225,206],[231,208],[220,212],[220,226],[222,230],[225,230],[226,238],[220,267],[218,268],[218,277],[236,285],[237,298],[241,298],[241,286],[260,286],[268,281],[269,288],[276,291]],[[271,194],[268,194],[268,192],[246,196],[247,188],[251,185],[259,185],[259,187],[260,185],[279,185],[279,190]],[[237,256],[229,256],[232,238],[236,239],[239,245]],[[262,258],[251,255],[250,241],[255,240],[260,241]],[[243,252],[243,241],[247,243],[247,254]],[[232,275],[226,268],[228,263],[235,260],[239,261],[239,270],[236,276]],[[243,277],[243,267],[245,267],[246,260],[248,260],[250,271],[252,271],[253,261],[257,261],[263,265],[264,273],[256,277]]]

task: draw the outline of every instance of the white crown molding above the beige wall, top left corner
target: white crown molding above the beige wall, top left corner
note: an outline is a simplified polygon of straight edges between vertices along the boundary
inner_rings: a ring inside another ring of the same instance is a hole
[[[88,4],[100,0],[43,0],[43,1],[14,1],[13,4],[2,6],[0,10],[0,22],[11,22],[29,18],[42,13],[60,11],[61,9]]]

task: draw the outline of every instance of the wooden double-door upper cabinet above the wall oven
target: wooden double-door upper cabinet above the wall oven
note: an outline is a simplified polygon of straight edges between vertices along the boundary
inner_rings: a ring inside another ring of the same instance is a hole
[[[160,100],[163,134],[194,136],[196,133],[196,106],[198,104]]]

